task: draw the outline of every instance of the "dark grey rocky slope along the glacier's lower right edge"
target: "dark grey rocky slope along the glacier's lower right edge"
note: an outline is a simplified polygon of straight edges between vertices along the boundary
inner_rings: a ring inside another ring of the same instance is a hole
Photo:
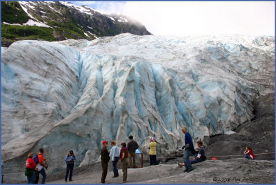
[[[242,157],[246,146],[249,146],[256,154],[256,159],[275,160],[274,102],[274,94],[256,99],[254,101],[254,119],[246,121],[231,135],[210,137],[206,155],[208,157],[219,156],[217,157],[219,159]]]

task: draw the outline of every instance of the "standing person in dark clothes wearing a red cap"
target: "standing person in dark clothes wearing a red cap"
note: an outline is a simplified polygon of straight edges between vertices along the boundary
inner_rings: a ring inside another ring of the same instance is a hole
[[[108,174],[108,162],[110,157],[107,146],[108,142],[103,141],[103,148],[101,148],[101,168],[103,169],[103,173],[101,174],[101,183],[106,183],[106,175]]]

